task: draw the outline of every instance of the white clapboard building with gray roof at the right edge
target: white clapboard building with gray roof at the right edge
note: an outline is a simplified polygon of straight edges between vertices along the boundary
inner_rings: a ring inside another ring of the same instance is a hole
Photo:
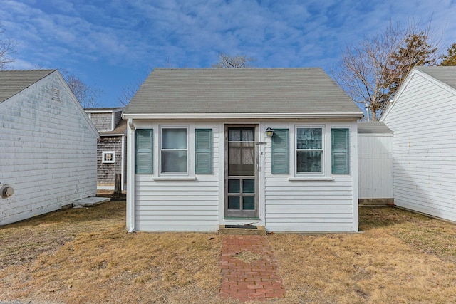
[[[394,203],[456,221],[456,67],[413,68],[381,118],[393,130]]]

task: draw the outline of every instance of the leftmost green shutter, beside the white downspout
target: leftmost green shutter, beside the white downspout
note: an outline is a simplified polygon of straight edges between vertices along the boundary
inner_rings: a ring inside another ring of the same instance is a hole
[[[136,174],[153,173],[154,130],[136,130]]]

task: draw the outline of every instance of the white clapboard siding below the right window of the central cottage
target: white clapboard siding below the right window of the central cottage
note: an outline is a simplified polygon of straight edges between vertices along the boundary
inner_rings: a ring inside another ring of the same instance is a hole
[[[266,177],[266,228],[271,231],[353,231],[350,181],[351,177],[308,182]],[[268,184],[287,186],[282,191],[271,192]]]

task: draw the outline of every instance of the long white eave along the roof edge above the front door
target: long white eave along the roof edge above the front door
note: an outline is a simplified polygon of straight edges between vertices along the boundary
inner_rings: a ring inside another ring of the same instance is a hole
[[[123,113],[124,119],[138,120],[221,120],[221,119],[309,119],[363,117],[362,112],[332,113]]]

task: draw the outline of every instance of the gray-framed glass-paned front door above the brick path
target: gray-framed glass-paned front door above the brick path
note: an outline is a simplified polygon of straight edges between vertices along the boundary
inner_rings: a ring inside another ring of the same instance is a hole
[[[258,125],[225,127],[225,219],[259,218]]]

